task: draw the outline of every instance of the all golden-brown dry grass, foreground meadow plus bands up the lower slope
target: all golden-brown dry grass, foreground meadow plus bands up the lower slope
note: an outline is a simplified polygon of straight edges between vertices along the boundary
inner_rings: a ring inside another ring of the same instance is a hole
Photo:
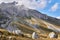
[[[28,19],[26,19],[28,20]],[[41,30],[39,29],[34,29],[28,25],[25,25],[25,24],[21,24],[19,22],[13,22],[12,24],[14,25],[17,25],[17,27],[22,30],[24,32],[24,36],[19,36],[19,35],[16,35],[16,34],[13,34],[13,33],[9,33],[7,30],[4,30],[4,29],[0,29],[0,40],[33,40],[31,38],[31,34],[33,32],[37,32],[38,35],[39,35],[39,38],[38,39],[34,39],[34,40],[60,40],[60,36],[58,38],[49,38],[48,37],[48,34],[51,32],[48,30],[47,26],[48,25],[52,25],[48,22],[45,22],[41,19],[34,19],[36,22],[34,22],[33,20],[31,20],[31,22],[34,24],[34,23],[37,23],[39,25],[39,27],[42,27],[42,31],[44,33],[41,32]],[[56,26],[56,25],[52,25],[52,26]],[[58,27],[58,26],[56,26]],[[46,29],[47,30],[46,30]],[[42,33],[42,34],[41,34]],[[12,37],[12,39],[9,39],[9,37]]]

